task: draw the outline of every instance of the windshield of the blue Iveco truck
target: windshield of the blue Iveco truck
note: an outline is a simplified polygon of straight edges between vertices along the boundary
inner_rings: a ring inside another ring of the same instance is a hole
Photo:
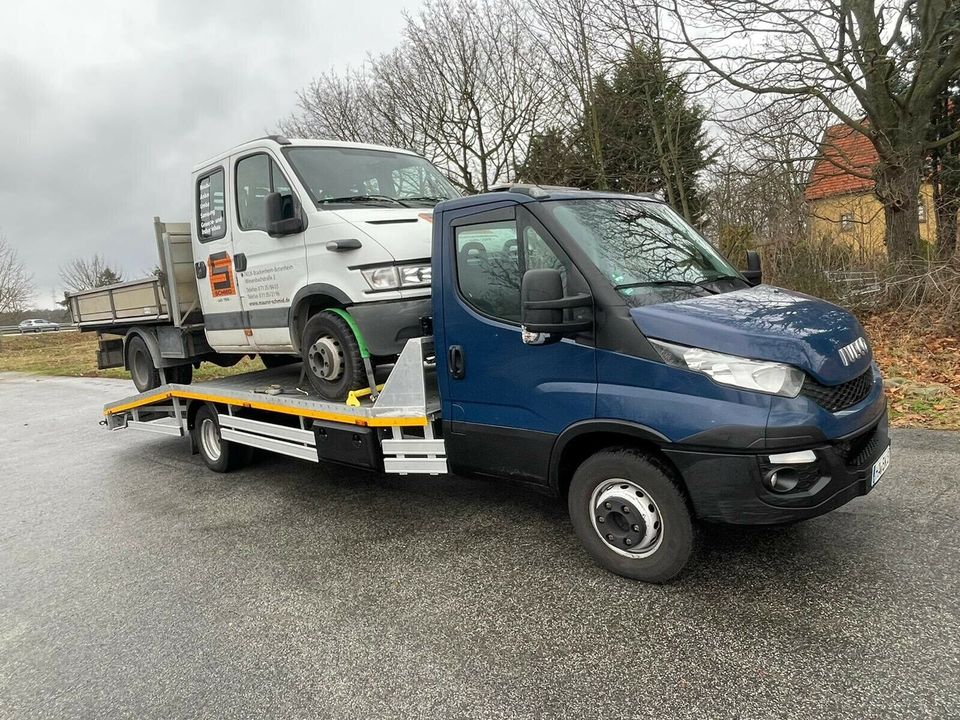
[[[662,203],[598,198],[543,206],[629,305],[747,287],[709,242]]]

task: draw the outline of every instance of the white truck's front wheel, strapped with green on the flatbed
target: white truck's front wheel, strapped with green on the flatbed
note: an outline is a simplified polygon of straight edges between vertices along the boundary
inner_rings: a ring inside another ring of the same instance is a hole
[[[315,347],[323,341],[323,346]],[[367,384],[360,344],[339,315],[319,312],[307,321],[300,338],[303,367],[316,393],[336,402]]]

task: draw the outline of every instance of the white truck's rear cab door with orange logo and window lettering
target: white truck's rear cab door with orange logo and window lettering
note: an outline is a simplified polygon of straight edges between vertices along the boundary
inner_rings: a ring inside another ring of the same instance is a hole
[[[228,227],[226,162],[197,176],[194,188],[193,259],[204,332],[214,350],[249,349],[237,292],[233,240]]]

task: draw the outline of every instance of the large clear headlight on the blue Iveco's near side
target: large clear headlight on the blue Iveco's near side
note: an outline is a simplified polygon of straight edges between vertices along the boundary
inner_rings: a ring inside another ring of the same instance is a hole
[[[750,360],[662,340],[651,340],[650,343],[668,365],[703,373],[721,385],[783,397],[796,397],[803,387],[803,372],[790,365]]]

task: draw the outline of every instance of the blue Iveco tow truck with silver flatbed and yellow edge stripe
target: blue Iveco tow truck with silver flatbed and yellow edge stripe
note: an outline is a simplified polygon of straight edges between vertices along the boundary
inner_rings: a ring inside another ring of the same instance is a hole
[[[857,320],[761,284],[755,254],[739,272],[664,203],[514,185],[441,202],[433,225],[432,317],[369,389],[333,403],[286,366],[165,383],[106,424],[189,435],[221,472],[259,448],[527,485],[566,501],[596,562],[648,582],[683,569],[701,521],[815,517],[889,466]]]

